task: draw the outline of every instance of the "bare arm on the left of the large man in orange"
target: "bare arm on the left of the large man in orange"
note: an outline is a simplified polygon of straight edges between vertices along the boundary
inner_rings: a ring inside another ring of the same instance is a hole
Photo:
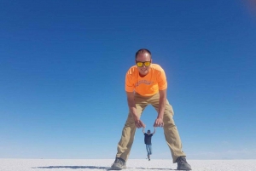
[[[145,127],[144,123],[140,120],[140,118],[137,116],[137,113],[136,113],[134,93],[133,92],[126,92],[126,95],[127,95],[127,102],[128,102],[129,110],[130,110],[131,115],[134,119],[136,127],[137,128],[142,128],[142,127],[144,128]]]

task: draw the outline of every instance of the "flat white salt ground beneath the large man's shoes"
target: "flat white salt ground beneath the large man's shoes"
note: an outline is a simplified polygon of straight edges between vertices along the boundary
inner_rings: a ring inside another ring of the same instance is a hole
[[[256,171],[256,160],[188,160],[195,171]],[[112,159],[1,159],[0,171],[100,171],[109,170]],[[176,170],[171,160],[129,159],[127,171]]]

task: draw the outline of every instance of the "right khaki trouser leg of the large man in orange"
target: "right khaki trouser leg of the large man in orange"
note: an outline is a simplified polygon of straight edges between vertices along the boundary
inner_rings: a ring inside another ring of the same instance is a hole
[[[159,94],[155,94],[150,102],[156,111],[159,111]],[[166,137],[166,143],[172,152],[172,161],[176,162],[178,157],[186,157],[186,154],[182,151],[182,142],[180,140],[177,127],[173,120],[173,110],[172,105],[169,104],[168,100],[166,100],[166,109],[164,112],[164,133]]]

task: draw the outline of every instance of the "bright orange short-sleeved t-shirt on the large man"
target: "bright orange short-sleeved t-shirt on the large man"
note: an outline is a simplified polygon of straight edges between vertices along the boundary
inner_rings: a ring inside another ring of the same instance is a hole
[[[125,91],[151,96],[167,88],[166,73],[157,64],[151,64],[148,74],[140,77],[137,66],[131,66],[125,77]]]

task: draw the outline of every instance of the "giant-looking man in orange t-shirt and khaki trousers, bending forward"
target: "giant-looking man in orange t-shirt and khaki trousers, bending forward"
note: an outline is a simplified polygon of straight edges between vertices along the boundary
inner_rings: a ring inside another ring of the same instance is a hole
[[[129,114],[117,147],[117,154],[111,169],[126,168],[131,145],[137,128],[145,128],[140,117],[147,105],[153,105],[158,115],[154,127],[163,127],[166,143],[172,153],[172,162],[177,162],[178,170],[191,170],[182,151],[182,142],[172,119],[172,105],[166,100],[167,81],[165,71],[152,64],[148,49],[139,49],[135,55],[136,66],[131,66],[125,77],[125,91]]]

